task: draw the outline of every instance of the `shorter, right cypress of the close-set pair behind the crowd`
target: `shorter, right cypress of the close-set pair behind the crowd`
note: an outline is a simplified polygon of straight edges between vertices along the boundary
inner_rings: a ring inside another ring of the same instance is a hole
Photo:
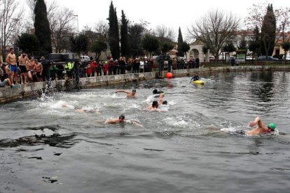
[[[129,50],[129,37],[128,37],[128,20],[122,10],[122,19],[121,19],[121,26],[120,26],[120,50],[123,56],[128,57],[130,50]]]

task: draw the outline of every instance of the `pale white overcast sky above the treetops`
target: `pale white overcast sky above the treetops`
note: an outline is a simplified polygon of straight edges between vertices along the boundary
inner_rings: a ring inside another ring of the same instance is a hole
[[[49,0],[48,0],[49,1]],[[273,7],[280,7],[288,0],[275,0]],[[83,26],[88,24],[93,26],[99,20],[106,21],[109,17],[109,6],[111,0],[57,0],[58,5],[65,6],[74,10],[78,15],[78,27],[81,31]],[[139,22],[145,20],[150,22],[151,29],[156,26],[165,24],[167,27],[173,27],[184,34],[186,28],[191,26],[195,20],[198,20],[202,15],[205,15],[209,10],[219,8],[221,10],[231,11],[243,21],[244,17],[249,13],[248,8],[253,3],[268,3],[266,0],[242,0],[242,1],[228,1],[228,0],[114,0],[113,6],[117,10],[118,19],[120,19],[121,10],[128,20]],[[283,3],[284,2],[284,3]],[[77,22],[76,22],[77,23]]]

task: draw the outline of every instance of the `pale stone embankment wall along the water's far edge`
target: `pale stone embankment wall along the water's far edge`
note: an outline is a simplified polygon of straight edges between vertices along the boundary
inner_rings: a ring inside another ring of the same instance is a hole
[[[184,69],[172,71],[174,77],[191,76],[195,72],[200,74],[209,72],[229,72],[229,71],[290,71],[290,66],[221,66],[200,69]],[[163,78],[166,76],[166,71],[163,71]],[[98,87],[101,85],[110,85],[118,83],[126,83],[132,81],[151,80],[158,78],[158,72],[148,73],[128,73],[115,76],[97,76],[90,78],[80,78],[81,87]],[[67,80],[52,81],[50,89],[62,90],[67,86]],[[15,101],[27,96],[35,96],[46,91],[47,83],[29,83],[22,85],[21,88],[11,89],[11,87],[0,88],[0,103]]]

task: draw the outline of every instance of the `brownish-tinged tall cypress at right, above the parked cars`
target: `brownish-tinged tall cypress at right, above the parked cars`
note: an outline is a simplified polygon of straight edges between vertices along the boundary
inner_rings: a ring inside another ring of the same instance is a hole
[[[275,47],[276,36],[276,17],[273,12],[272,4],[268,5],[267,13],[264,16],[261,28],[261,53],[271,56]]]

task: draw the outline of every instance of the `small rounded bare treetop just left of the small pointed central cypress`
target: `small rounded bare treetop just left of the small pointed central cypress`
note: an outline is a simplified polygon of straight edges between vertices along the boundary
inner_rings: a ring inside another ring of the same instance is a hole
[[[163,25],[158,25],[156,30],[153,31],[153,34],[157,36],[160,41],[174,41],[177,38],[177,33],[175,33],[172,27],[166,27]]]

